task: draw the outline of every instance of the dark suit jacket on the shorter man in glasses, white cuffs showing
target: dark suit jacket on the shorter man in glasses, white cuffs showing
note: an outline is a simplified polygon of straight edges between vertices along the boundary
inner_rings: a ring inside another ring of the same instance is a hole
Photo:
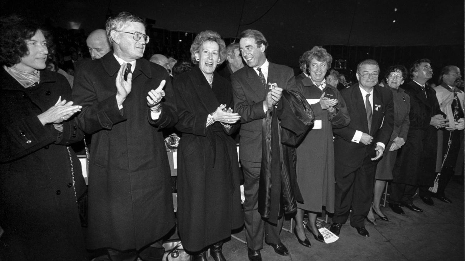
[[[374,148],[378,142],[387,146],[394,125],[394,102],[392,91],[379,85],[373,87],[373,114],[371,132],[368,132],[368,120],[366,118],[365,99],[359,88],[359,84],[352,85],[341,91],[349,111],[350,124],[344,128],[333,129],[334,158],[337,164],[350,167],[359,167],[365,157],[375,157]],[[361,142],[352,142],[355,131],[369,133],[373,137],[370,145]],[[388,150],[389,148],[385,148]]]

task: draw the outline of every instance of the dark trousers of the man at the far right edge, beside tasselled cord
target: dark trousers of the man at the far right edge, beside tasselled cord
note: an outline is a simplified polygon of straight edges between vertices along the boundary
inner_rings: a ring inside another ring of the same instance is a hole
[[[444,190],[447,183],[451,180],[454,175],[454,168],[457,163],[458,152],[460,150],[460,142],[463,142],[463,131],[444,131],[443,132],[443,144],[442,144],[442,159],[447,153],[447,157],[441,169],[441,175],[439,176],[437,196],[444,196]],[[450,148],[448,149],[448,144]]]

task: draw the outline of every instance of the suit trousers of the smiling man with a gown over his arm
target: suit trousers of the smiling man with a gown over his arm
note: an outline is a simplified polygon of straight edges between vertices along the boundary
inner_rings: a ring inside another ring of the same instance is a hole
[[[244,223],[246,227],[247,247],[252,250],[263,248],[263,235],[267,243],[279,244],[279,233],[283,226],[283,218],[278,224],[272,224],[262,219],[258,208],[259,181],[261,163],[241,160],[244,172]]]

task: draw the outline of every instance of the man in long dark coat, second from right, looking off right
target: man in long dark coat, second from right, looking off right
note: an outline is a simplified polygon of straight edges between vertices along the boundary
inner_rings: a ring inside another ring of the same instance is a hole
[[[404,214],[406,207],[415,212],[423,209],[413,204],[413,195],[419,196],[428,205],[434,205],[428,190],[436,178],[436,156],[438,151],[438,129],[445,127],[445,114],[440,110],[436,91],[427,81],[433,70],[429,59],[419,59],[410,68],[412,80],[402,89],[410,96],[410,126],[407,140],[399,150],[392,171],[389,207],[394,213]]]

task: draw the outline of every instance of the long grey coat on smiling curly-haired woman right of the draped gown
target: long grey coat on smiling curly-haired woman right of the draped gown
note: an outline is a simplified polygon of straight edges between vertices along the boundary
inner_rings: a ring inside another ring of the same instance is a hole
[[[339,100],[337,112],[330,115],[322,110],[319,99],[323,91],[312,83],[308,77],[296,80],[296,90],[309,101],[315,114],[315,121],[320,127],[310,129],[305,139],[297,147],[297,182],[302,193],[303,202],[298,202],[300,209],[321,212],[321,206],[326,211],[334,213],[334,146],[332,129],[349,124],[350,117],[345,107],[344,98],[339,91],[327,84],[323,90],[327,97]],[[332,95],[332,96],[330,96]]]

